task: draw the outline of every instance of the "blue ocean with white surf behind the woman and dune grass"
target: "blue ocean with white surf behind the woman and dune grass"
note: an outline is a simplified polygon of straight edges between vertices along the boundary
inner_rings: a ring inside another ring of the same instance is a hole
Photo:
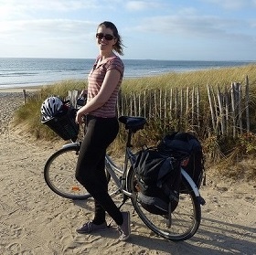
[[[253,63],[153,59],[123,59],[123,62],[124,79]],[[87,79],[93,63],[94,59],[87,58],[0,58],[0,89],[48,85],[61,80],[84,80]]]

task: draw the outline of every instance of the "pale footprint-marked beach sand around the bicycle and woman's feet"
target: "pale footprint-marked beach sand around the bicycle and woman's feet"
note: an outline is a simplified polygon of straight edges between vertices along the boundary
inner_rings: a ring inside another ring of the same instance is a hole
[[[0,100],[0,254],[256,254],[256,184],[221,179],[210,169],[207,186],[200,189],[207,202],[201,225],[187,241],[156,237],[130,203],[123,207],[132,215],[129,240],[119,241],[115,226],[76,233],[92,217],[92,200],[59,197],[43,177],[46,160],[61,142],[38,143],[11,124],[12,112],[23,103],[22,91],[0,90]]]

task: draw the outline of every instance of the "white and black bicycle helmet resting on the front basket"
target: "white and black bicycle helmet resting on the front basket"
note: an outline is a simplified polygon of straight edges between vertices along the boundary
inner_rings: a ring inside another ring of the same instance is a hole
[[[45,119],[52,118],[61,111],[63,102],[58,97],[49,97],[41,106],[41,113]]]

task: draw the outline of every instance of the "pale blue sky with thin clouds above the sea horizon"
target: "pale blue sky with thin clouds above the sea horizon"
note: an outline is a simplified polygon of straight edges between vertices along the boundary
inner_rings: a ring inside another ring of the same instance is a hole
[[[96,58],[112,21],[126,59],[256,60],[256,0],[0,0],[0,58]]]

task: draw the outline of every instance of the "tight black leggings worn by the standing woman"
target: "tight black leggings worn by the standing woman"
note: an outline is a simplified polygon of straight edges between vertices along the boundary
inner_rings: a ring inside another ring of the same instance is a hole
[[[105,154],[119,130],[116,118],[87,116],[86,133],[81,143],[76,169],[76,178],[94,198],[95,215],[93,222],[105,221],[105,211],[117,225],[123,224],[120,209],[108,194],[108,182],[105,175]]]

